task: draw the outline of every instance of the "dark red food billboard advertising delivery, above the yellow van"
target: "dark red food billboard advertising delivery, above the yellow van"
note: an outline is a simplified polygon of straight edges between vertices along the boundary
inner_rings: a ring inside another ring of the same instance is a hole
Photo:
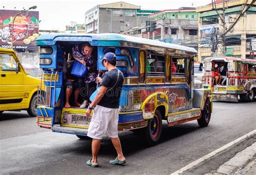
[[[13,32],[15,50],[35,50],[35,39],[39,36],[39,12],[26,11],[18,15],[14,22],[14,17],[19,12],[21,11],[0,10],[0,47],[11,47]]]

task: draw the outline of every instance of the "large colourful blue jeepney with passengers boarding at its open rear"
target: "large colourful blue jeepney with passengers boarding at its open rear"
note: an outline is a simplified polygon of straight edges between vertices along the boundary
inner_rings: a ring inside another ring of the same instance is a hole
[[[209,88],[193,82],[194,48],[121,34],[42,34],[37,39],[46,86],[45,103],[38,106],[37,123],[53,132],[86,138],[91,117],[86,109],[64,108],[63,64],[73,45],[89,42],[98,60],[106,51],[117,55],[125,79],[120,97],[118,130],[138,131],[147,143],[158,142],[162,120],[172,125],[198,120],[206,127],[211,117]],[[40,89],[40,87],[38,88]],[[72,106],[72,104],[71,104]]]

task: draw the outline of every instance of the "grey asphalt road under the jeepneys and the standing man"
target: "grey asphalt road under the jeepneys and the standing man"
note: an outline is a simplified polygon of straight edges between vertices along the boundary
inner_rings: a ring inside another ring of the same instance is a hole
[[[256,101],[215,102],[210,124],[197,121],[171,128],[166,122],[160,143],[145,146],[133,132],[119,137],[127,164],[111,165],[116,152],[104,139],[98,168],[86,165],[91,141],[37,127],[25,112],[4,112],[0,117],[0,174],[170,174],[194,160],[254,130]]]

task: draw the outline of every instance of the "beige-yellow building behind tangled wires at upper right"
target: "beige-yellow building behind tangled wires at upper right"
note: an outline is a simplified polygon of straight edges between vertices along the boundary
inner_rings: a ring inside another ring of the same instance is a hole
[[[256,4],[250,5],[251,3],[252,0],[247,3],[225,0],[224,17],[223,1],[197,8],[200,30],[199,60],[223,56],[224,53],[231,57],[256,59]],[[246,9],[247,11],[241,16]],[[221,19],[224,19],[224,23]],[[225,30],[223,30],[224,26]],[[224,34],[227,30],[228,32]]]

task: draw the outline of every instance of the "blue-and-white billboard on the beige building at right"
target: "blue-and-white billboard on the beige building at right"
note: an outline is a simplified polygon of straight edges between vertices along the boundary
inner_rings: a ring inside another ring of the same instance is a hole
[[[212,41],[216,39],[217,34],[219,33],[219,24],[210,24],[200,26],[201,32],[201,47],[210,47],[212,46]],[[213,42],[216,43],[217,41]]]

